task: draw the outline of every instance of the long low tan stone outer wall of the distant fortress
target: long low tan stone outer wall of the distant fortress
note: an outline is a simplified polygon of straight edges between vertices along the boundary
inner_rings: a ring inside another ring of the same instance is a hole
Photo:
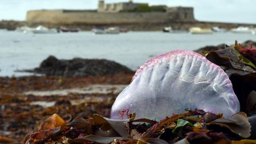
[[[120,12],[98,13],[91,11],[40,10],[27,12],[27,23],[52,24],[120,24],[164,23],[170,21],[166,12]]]

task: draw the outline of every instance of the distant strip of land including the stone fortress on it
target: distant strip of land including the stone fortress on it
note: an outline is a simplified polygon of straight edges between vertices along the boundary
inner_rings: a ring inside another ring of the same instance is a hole
[[[167,7],[166,5],[149,6],[147,3],[119,2],[105,4],[98,2],[95,10],[35,10],[28,11],[26,21],[0,21],[0,28],[14,30],[21,25],[36,27],[44,25],[55,28],[121,27],[134,31],[157,31],[171,26],[173,29],[188,30],[190,27],[222,27],[235,28],[238,26],[256,27],[256,24],[218,23],[197,21],[194,18],[193,7]]]

